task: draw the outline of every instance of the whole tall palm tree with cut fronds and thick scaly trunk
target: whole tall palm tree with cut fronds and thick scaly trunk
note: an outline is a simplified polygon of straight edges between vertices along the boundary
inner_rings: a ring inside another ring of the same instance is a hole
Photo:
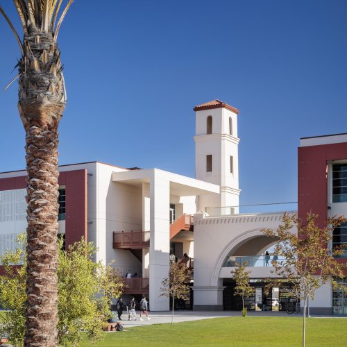
[[[57,344],[58,124],[66,104],[57,37],[72,1],[58,19],[62,0],[13,0],[23,40],[0,7],[22,53],[13,81],[19,82],[28,172],[25,346]]]

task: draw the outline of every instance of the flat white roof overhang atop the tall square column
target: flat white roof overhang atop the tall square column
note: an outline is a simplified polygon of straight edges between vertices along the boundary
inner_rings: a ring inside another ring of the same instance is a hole
[[[123,172],[113,172],[112,181],[142,187],[142,183],[151,183],[158,178],[170,183],[170,194],[177,196],[197,196],[219,194],[219,185],[196,180],[187,176],[174,174],[160,169],[143,169]]]

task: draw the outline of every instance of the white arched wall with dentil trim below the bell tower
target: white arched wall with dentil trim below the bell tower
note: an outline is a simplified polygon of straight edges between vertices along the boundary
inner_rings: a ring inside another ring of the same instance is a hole
[[[194,215],[194,310],[223,310],[223,278],[230,278],[232,269],[223,268],[226,257],[261,255],[276,242],[262,229],[276,230],[283,213]],[[258,267],[251,271],[255,271],[252,277],[265,278],[271,270]]]

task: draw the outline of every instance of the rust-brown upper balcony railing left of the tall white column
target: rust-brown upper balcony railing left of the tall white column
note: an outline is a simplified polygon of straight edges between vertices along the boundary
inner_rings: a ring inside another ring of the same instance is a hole
[[[149,231],[113,232],[113,248],[149,248]]]

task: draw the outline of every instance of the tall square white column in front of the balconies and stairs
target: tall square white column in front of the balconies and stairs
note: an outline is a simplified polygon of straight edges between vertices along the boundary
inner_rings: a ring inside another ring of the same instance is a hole
[[[154,171],[151,178],[151,237],[149,251],[149,302],[151,311],[168,311],[169,298],[160,296],[163,278],[169,275],[170,183]]]

